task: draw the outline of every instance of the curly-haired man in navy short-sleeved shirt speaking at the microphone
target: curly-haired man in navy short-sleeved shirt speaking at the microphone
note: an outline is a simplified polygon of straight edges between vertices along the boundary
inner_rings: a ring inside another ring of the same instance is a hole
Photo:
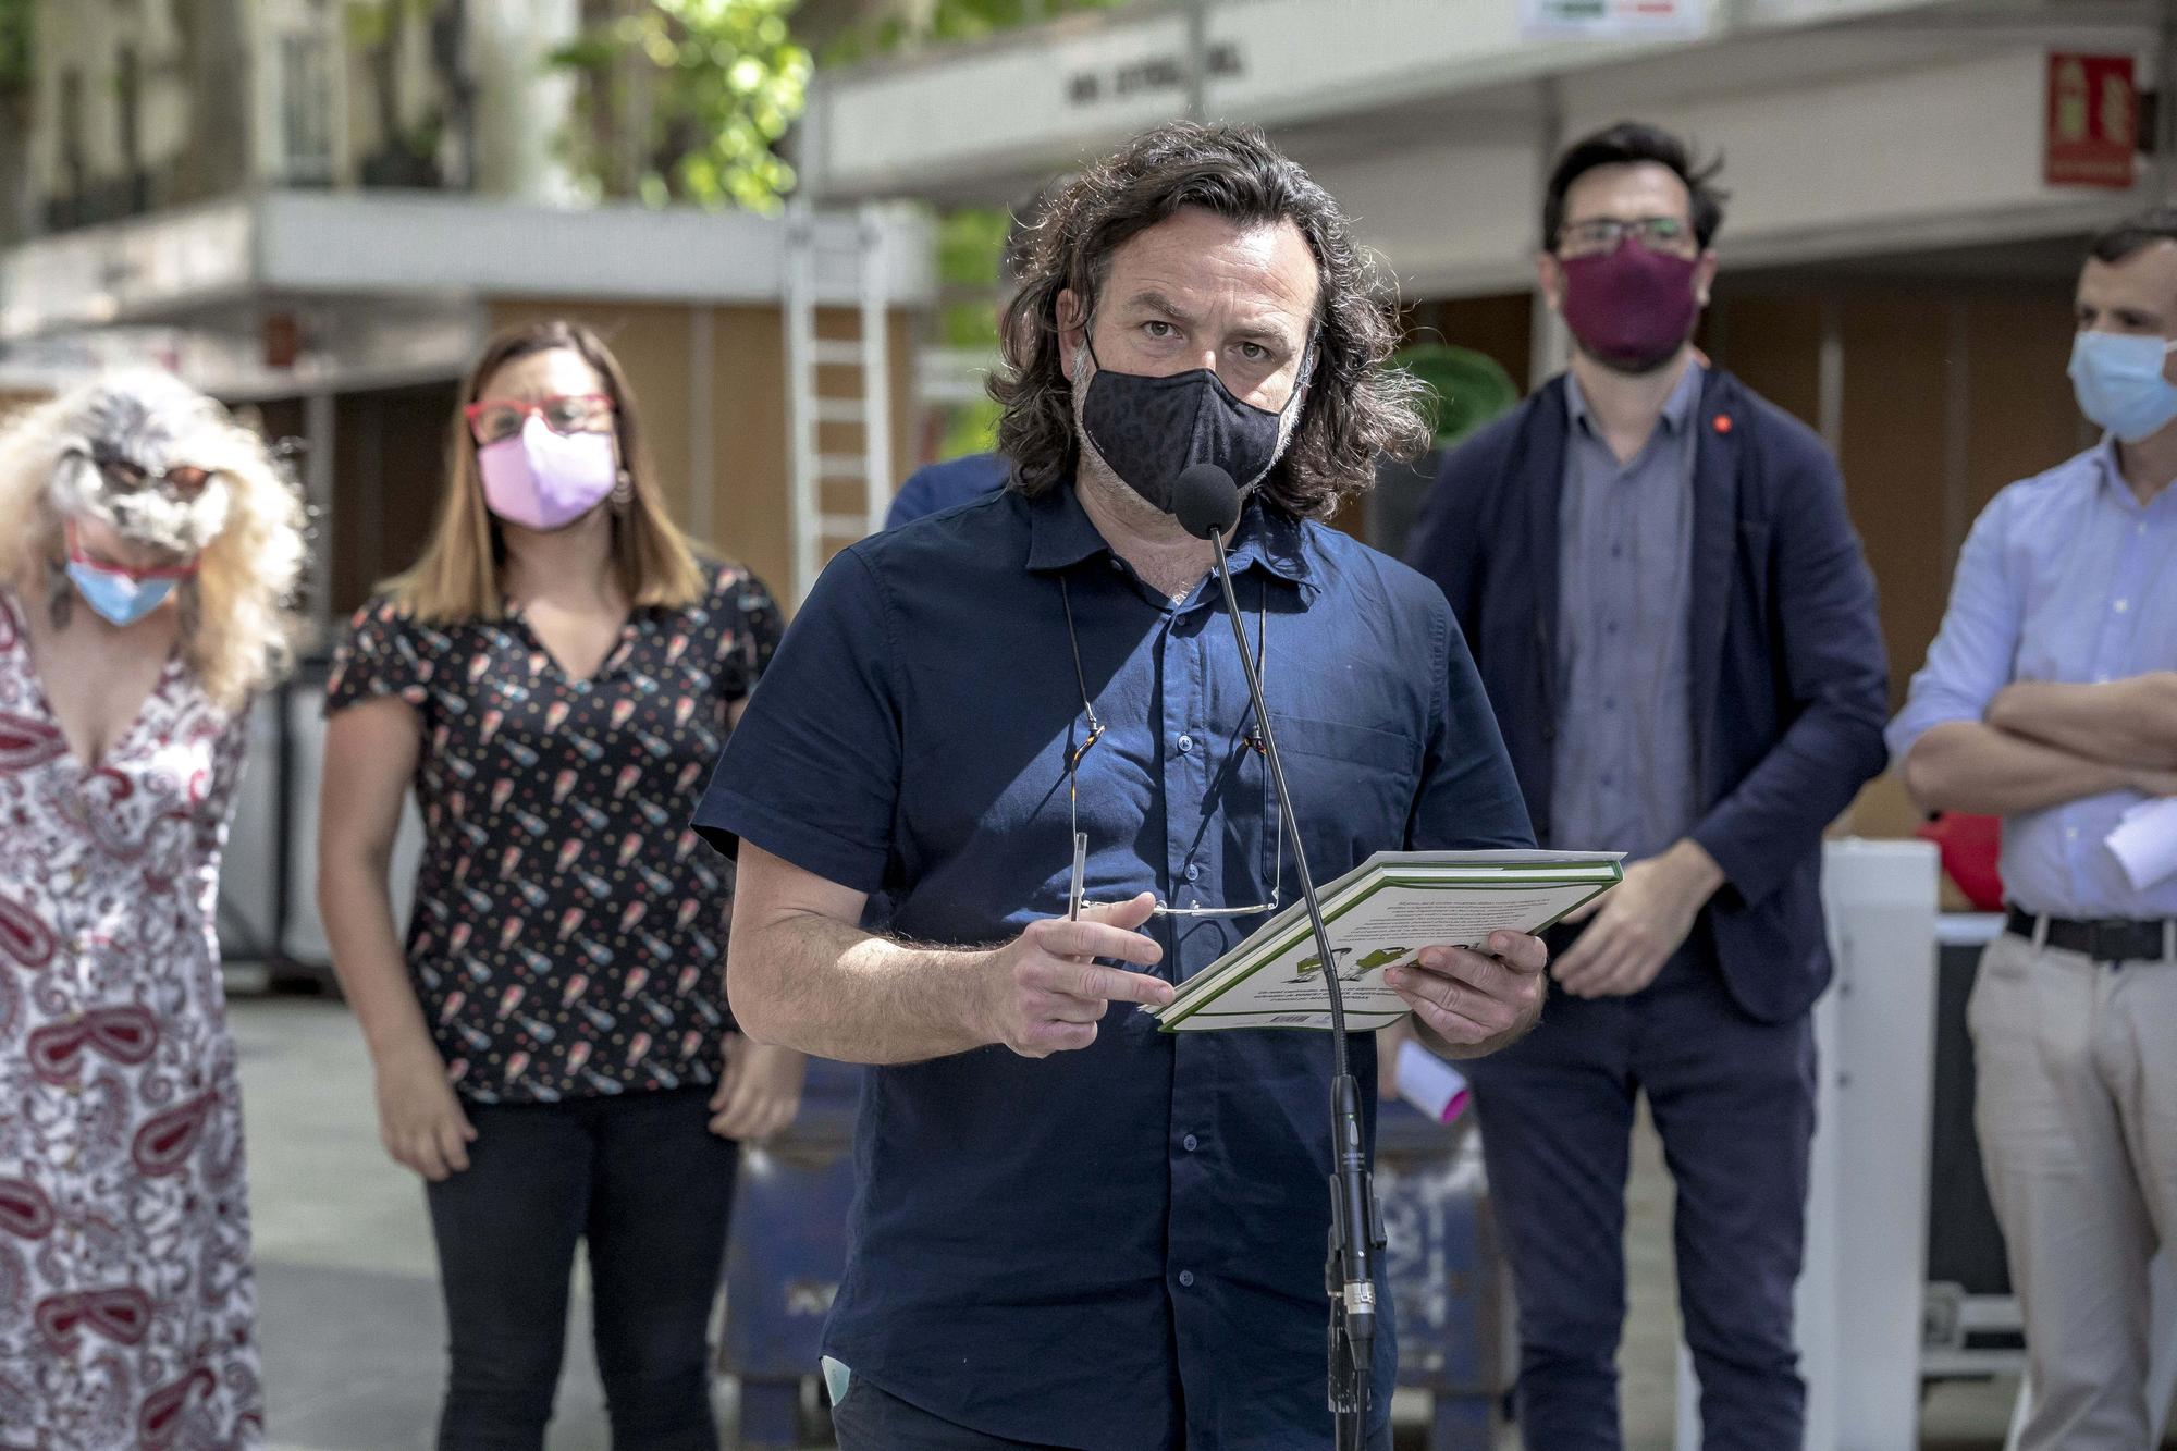
[[[697,813],[738,843],[742,1031],[877,1065],[834,1427],[847,1451],[1328,1444],[1328,1044],[1160,1035],[1139,1004],[1295,902],[1297,848],[1328,880],[1530,845],[1441,590],[1321,523],[1422,442],[1417,386],[1385,370],[1337,205],[1226,126],[1071,181],[1004,336],[1012,481],[825,569]],[[1302,841],[1213,545],[1171,516],[1200,464],[1243,488],[1230,571]],[[1543,959],[1430,948],[1398,987],[1478,1054],[1533,1024]],[[1369,1444],[1393,1370],[1378,1333]]]

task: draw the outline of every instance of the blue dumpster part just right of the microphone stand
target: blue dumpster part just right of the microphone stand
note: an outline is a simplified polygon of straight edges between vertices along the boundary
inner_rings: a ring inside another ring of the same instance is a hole
[[[1432,1397],[1428,1451],[1489,1451],[1506,1390],[1506,1283],[1480,1131],[1382,1100],[1376,1203],[1398,1307],[1398,1383]]]

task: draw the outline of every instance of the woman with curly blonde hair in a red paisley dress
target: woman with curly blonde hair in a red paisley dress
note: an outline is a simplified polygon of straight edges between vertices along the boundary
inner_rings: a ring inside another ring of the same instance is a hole
[[[303,510],[163,373],[0,425],[0,1425],[255,1447],[242,1105],[213,930]]]

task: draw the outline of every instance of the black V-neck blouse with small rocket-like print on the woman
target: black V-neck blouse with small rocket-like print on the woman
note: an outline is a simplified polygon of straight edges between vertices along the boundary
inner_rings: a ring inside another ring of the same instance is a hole
[[[779,612],[747,571],[705,573],[701,603],[636,610],[590,680],[518,610],[435,627],[390,599],[333,658],[327,715],[401,695],[422,717],[407,963],[464,1098],[718,1076],[729,880],[688,817]]]

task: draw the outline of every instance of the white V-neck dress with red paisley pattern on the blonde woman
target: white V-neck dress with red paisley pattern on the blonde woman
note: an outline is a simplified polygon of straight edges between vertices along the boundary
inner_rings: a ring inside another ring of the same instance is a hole
[[[172,664],[85,769],[0,590],[0,1447],[263,1444],[211,926],[244,747]]]

